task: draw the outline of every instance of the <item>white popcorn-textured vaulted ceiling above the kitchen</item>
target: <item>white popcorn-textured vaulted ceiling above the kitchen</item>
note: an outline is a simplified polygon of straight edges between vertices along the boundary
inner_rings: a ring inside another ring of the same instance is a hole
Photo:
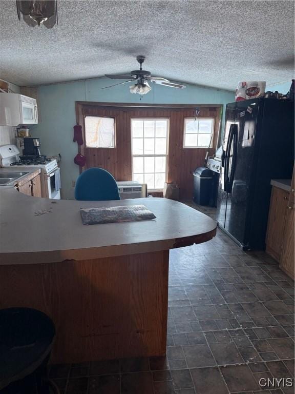
[[[153,75],[229,90],[293,75],[293,1],[57,4],[59,24],[48,30],[0,1],[0,78],[26,86],[130,72],[138,54]]]

